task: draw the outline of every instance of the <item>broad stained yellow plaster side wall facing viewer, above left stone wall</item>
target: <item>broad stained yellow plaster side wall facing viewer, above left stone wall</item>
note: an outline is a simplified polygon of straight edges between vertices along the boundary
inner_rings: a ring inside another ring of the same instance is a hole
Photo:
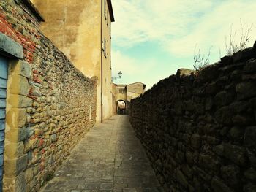
[[[88,77],[100,74],[100,0],[33,1],[42,32]],[[56,11],[58,10],[58,11]]]

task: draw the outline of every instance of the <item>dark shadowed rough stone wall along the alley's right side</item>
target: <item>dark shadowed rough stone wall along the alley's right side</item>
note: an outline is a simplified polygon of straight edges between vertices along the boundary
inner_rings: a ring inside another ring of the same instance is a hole
[[[132,100],[130,122],[170,191],[256,191],[256,43],[178,70]]]

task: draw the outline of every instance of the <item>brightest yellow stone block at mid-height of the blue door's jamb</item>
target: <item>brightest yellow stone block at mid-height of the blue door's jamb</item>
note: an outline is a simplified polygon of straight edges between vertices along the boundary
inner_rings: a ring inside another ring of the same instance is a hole
[[[6,123],[10,128],[21,128],[26,123],[26,109],[11,108],[7,111]]]

